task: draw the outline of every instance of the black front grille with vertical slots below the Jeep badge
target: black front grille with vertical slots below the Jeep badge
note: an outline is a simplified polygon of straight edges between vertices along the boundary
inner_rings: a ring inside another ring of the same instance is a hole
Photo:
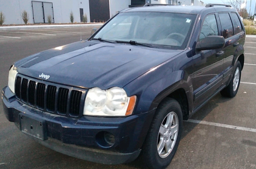
[[[17,76],[16,98],[32,107],[63,116],[79,117],[86,90]]]

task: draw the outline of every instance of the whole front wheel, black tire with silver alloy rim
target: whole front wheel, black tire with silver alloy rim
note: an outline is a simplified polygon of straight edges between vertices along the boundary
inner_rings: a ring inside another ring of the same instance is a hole
[[[148,168],[166,168],[175,155],[183,130],[180,104],[171,98],[164,99],[157,108],[141,150]]]

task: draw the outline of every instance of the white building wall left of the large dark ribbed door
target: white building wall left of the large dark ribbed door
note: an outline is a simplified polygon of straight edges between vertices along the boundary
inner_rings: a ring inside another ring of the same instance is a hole
[[[79,8],[84,9],[87,21],[90,22],[89,0],[42,0],[53,3],[55,23],[69,23],[70,12],[73,12],[74,22],[80,22]],[[81,3],[82,2],[82,3]],[[0,0],[0,12],[5,15],[4,24],[24,24],[21,18],[22,11],[29,13],[28,23],[33,24],[33,10],[31,0]],[[45,16],[46,19],[47,16]],[[45,20],[47,22],[47,19]]]

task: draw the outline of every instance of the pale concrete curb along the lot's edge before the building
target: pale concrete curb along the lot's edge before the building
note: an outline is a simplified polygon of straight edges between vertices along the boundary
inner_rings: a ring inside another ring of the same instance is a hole
[[[55,27],[93,27],[101,26],[103,24],[75,24],[75,25],[27,25],[27,26],[10,26],[10,27],[0,27],[1,30],[20,30],[20,29],[39,29],[39,28],[55,28]]]

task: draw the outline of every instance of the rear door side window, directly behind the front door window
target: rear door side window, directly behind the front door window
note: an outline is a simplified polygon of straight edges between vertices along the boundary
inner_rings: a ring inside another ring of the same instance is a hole
[[[220,24],[222,28],[222,36],[226,39],[234,35],[233,33],[233,25],[231,22],[231,18],[228,13],[219,13],[220,16]]]

